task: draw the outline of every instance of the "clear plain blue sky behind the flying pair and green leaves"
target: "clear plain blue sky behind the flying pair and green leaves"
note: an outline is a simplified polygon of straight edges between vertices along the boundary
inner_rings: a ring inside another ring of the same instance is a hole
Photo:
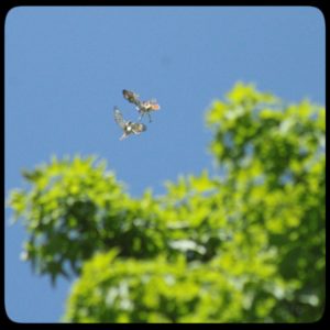
[[[52,155],[96,154],[129,193],[213,170],[208,107],[241,80],[288,102],[324,105],[324,21],[312,7],[19,7],[6,20],[6,196],[22,168]],[[140,136],[122,89],[156,98]],[[20,260],[26,233],[6,209],[6,295],[16,322],[56,322],[73,282],[53,288]]]

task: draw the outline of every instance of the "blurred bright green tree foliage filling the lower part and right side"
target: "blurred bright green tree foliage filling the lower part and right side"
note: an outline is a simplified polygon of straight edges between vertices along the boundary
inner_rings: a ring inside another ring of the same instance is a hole
[[[237,84],[206,116],[219,175],[132,198],[96,157],[11,193],[33,270],[78,276],[67,322],[306,322],[324,307],[326,109]]]

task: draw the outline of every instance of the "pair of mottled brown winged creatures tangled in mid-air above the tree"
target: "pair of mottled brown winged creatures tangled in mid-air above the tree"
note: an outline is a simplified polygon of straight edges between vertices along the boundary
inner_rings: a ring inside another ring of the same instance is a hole
[[[123,130],[123,134],[119,140],[123,140],[128,138],[130,134],[140,134],[146,130],[146,125],[141,123],[140,121],[142,120],[144,114],[147,114],[148,117],[148,122],[151,122],[151,112],[157,111],[161,109],[160,105],[155,99],[147,100],[147,101],[141,101],[139,98],[139,95],[123,89],[122,91],[123,97],[130,102],[135,105],[136,110],[140,113],[139,117],[139,122],[132,122],[124,120],[122,117],[121,111],[114,107],[113,110],[113,116],[114,116],[114,121],[119,124],[119,127]]]

